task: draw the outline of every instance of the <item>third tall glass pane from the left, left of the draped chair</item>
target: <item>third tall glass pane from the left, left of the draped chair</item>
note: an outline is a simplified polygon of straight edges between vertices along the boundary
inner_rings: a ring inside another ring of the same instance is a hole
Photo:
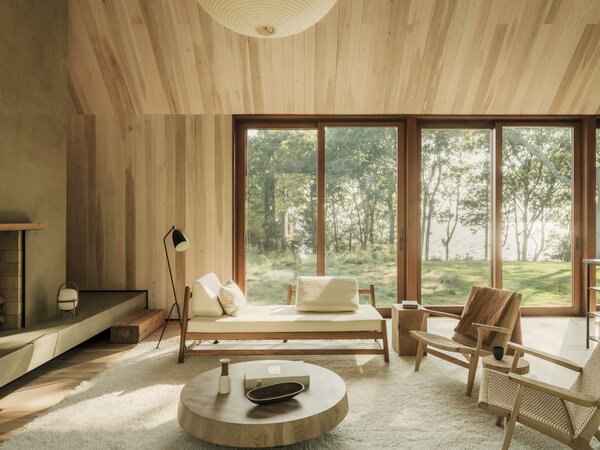
[[[490,284],[491,154],[491,130],[421,131],[423,304],[464,305]]]

